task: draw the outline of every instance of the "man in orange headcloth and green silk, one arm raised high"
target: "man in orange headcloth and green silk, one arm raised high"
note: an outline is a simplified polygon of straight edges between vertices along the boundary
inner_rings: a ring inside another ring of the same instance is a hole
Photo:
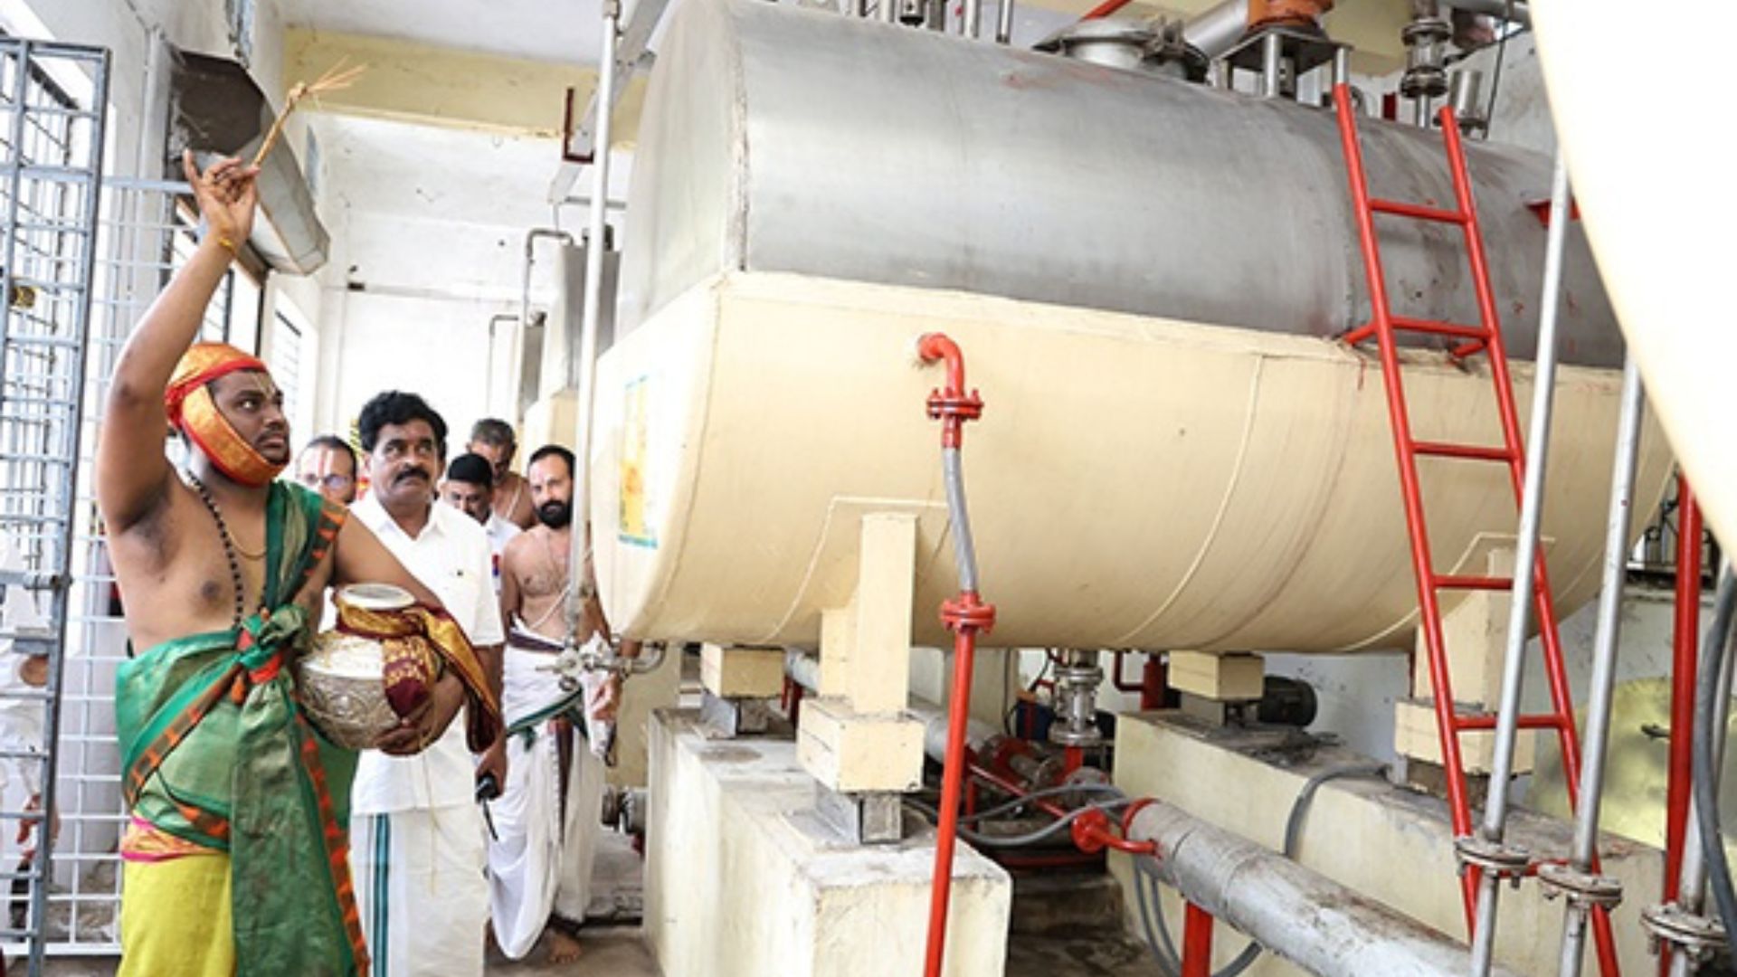
[[[367,974],[344,812],[356,754],[307,721],[287,666],[328,586],[398,584],[424,619],[450,619],[344,506],[276,480],[290,429],[266,365],[193,344],[252,228],[257,170],[184,165],[207,235],[127,341],[97,443],[97,504],[142,648],[115,680],[132,815],[120,974]],[[165,455],[170,426],[184,471]],[[438,675],[377,746],[417,753],[469,706],[479,751],[495,695],[457,628],[426,631]]]

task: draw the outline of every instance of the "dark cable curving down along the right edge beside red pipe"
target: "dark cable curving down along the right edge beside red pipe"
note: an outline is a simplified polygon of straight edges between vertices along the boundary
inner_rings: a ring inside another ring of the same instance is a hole
[[[1718,595],[1713,598],[1713,628],[1701,645],[1701,664],[1695,666],[1695,730],[1688,777],[1694,784],[1695,826],[1707,866],[1707,887],[1713,890],[1713,902],[1727,934],[1737,934],[1737,892],[1732,890],[1732,867],[1725,859],[1725,841],[1720,834],[1718,768],[1713,749],[1725,734],[1730,688],[1720,688],[1720,675],[1732,654],[1732,640],[1737,638],[1734,622],[1737,622],[1737,575],[1727,565],[1720,574]]]

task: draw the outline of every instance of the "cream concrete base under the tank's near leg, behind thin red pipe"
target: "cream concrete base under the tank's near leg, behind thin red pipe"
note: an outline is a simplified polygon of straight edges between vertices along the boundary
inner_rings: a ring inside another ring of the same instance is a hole
[[[691,711],[658,711],[644,913],[658,965],[707,977],[921,974],[935,838],[907,833],[848,843],[815,812],[794,744],[707,741]],[[1007,873],[961,845],[948,975],[1004,970],[1011,899]]]

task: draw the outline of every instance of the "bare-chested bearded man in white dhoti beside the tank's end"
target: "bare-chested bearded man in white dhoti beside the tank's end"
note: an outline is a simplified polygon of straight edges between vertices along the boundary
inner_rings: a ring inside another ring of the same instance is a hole
[[[566,695],[547,671],[568,629],[573,452],[558,445],[537,449],[526,475],[537,525],[500,555],[500,614],[511,628],[502,695],[512,732],[488,873],[500,949],[519,960],[547,930],[549,960],[565,963],[578,956],[577,930],[589,902],[603,798],[603,763],[594,753],[606,751],[598,748],[615,720],[620,678],[592,678],[585,692]],[[603,608],[591,600],[578,640],[606,638]],[[624,643],[622,654],[637,652],[637,643]],[[592,749],[575,746],[575,728],[589,730]]]

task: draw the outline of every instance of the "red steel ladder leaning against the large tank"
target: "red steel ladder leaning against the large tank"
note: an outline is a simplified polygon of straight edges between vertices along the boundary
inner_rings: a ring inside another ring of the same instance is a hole
[[[1357,235],[1364,250],[1364,273],[1369,276],[1370,322],[1350,330],[1344,341],[1350,344],[1374,337],[1381,351],[1381,381],[1388,395],[1388,417],[1393,426],[1393,449],[1398,455],[1400,492],[1405,497],[1405,525],[1410,532],[1412,572],[1417,577],[1417,605],[1424,647],[1430,655],[1430,685],[1435,694],[1435,721],[1442,737],[1442,767],[1447,781],[1447,805],[1452,812],[1454,836],[1470,838],[1473,834],[1471,801],[1466,791],[1466,768],[1461,761],[1459,737],[1468,732],[1494,730],[1494,713],[1461,713],[1454,706],[1454,690],[1447,669],[1447,648],[1442,638],[1442,591],[1511,591],[1513,581],[1506,577],[1471,577],[1438,574],[1430,556],[1430,527],[1423,511],[1423,490],[1417,480],[1419,457],[1457,459],[1464,462],[1497,462],[1508,466],[1513,482],[1515,506],[1525,485],[1525,447],[1520,438],[1520,419],[1515,412],[1513,382],[1508,376],[1508,353],[1503,346],[1501,322],[1496,316],[1496,297],[1490,292],[1490,273],[1483,256],[1483,235],[1478,231],[1478,212],[1471,200],[1471,177],[1466,174],[1466,155],[1459,141],[1459,123],[1454,110],[1443,106],[1438,118],[1442,137],[1447,143],[1447,163],[1454,176],[1454,209],[1430,207],[1423,203],[1402,203],[1395,200],[1376,200],[1369,196],[1369,177],[1364,170],[1364,151],[1357,139],[1357,111],[1351,108],[1350,87],[1339,83],[1332,90],[1334,108],[1339,116],[1339,141],[1344,148],[1344,162],[1350,170],[1351,202],[1357,210]],[[1386,278],[1381,271],[1381,243],[1376,235],[1376,214],[1391,214],[1414,221],[1430,221],[1457,226],[1466,236],[1466,252],[1471,259],[1471,282],[1478,296],[1478,323],[1463,325],[1450,322],[1423,320],[1393,315],[1388,302]],[[1410,410],[1405,402],[1405,384],[1400,377],[1398,334],[1419,332],[1457,339],[1452,348],[1456,358],[1485,353],[1490,362],[1490,379],[1496,386],[1496,403],[1503,424],[1503,443],[1496,447],[1419,442],[1412,436]],[[1522,730],[1556,730],[1562,742],[1563,774],[1569,786],[1570,807],[1579,800],[1581,789],[1581,744],[1574,728],[1574,701],[1569,692],[1567,671],[1562,664],[1562,638],[1556,633],[1556,605],[1551,600],[1549,577],[1544,568],[1544,551],[1539,549],[1534,568],[1536,619],[1544,641],[1544,671],[1549,676],[1548,713],[1522,714]],[[1466,927],[1475,925],[1478,899],[1478,867],[1466,866],[1461,874],[1461,888],[1466,904]],[[1603,907],[1593,913],[1593,935],[1598,944],[1598,963],[1605,977],[1617,977],[1615,942],[1610,932],[1610,916]]]

